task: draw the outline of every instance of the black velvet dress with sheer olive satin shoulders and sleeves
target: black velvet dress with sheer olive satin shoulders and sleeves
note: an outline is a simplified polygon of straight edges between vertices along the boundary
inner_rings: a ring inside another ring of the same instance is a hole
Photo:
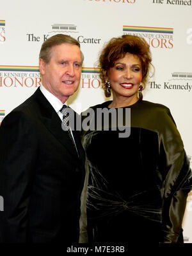
[[[192,178],[170,110],[144,100],[123,107],[131,133],[120,138],[110,118],[109,131],[96,129],[97,109],[110,103],[91,108],[92,129],[83,132],[88,242],[177,242]]]

